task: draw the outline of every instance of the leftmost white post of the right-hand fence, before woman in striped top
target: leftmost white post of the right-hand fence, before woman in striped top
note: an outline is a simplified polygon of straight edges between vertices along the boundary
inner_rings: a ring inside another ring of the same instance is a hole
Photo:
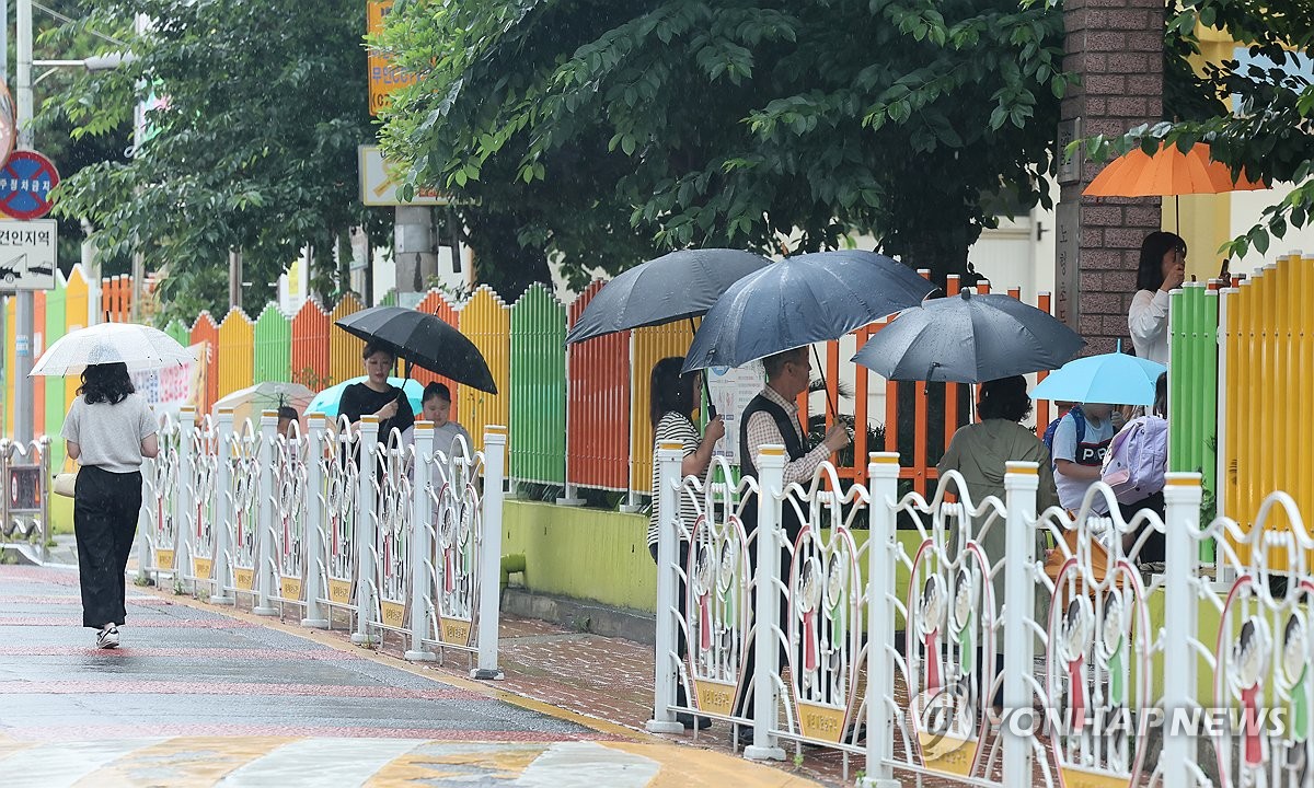
[[[653,675],[653,718],[646,728],[652,733],[683,733],[685,726],[675,721],[670,704],[675,700],[675,671],[671,654],[675,651],[675,633],[679,629],[675,599],[679,582],[675,578],[677,556],[679,556],[681,481],[679,464],[685,458],[685,447],[678,440],[664,440],[657,447],[657,670]],[[678,662],[677,662],[678,663]]]

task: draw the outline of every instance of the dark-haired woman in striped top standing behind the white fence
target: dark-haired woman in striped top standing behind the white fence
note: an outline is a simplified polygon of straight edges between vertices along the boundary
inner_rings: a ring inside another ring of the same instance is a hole
[[[653,423],[653,502],[652,515],[648,519],[648,552],[652,554],[653,561],[657,561],[657,502],[661,495],[661,469],[657,462],[657,450],[664,441],[679,441],[685,449],[685,461],[679,466],[681,478],[700,477],[706,483],[707,466],[712,462],[712,448],[725,435],[725,423],[720,416],[707,423],[706,435],[698,435],[698,427],[694,424],[692,415],[694,407],[698,405],[698,391],[702,389],[703,373],[681,374],[679,369],[683,364],[685,360],[675,356],[662,359],[653,365],[650,381],[652,401],[649,402],[648,415]],[[679,494],[679,517],[686,528],[692,528],[698,517],[694,500],[683,489]],[[665,525],[662,524],[661,527]],[[689,566],[687,538],[679,540],[679,565]],[[687,590],[683,575],[681,575],[679,580],[678,599],[679,615],[685,617],[687,612]],[[679,655],[683,657],[686,649],[683,628],[681,628],[677,647]],[[685,683],[677,682],[675,687],[675,705],[689,705]],[[694,720],[692,714],[686,712],[677,713],[675,720],[685,728],[694,728],[696,724],[700,730],[711,725],[711,720],[707,717]]]

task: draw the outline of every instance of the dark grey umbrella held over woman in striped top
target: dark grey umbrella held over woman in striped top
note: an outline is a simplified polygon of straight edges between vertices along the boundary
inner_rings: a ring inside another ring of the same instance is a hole
[[[740,250],[681,250],[607,282],[583,309],[566,344],[628,328],[692,319],[736,281],[771,261]]]

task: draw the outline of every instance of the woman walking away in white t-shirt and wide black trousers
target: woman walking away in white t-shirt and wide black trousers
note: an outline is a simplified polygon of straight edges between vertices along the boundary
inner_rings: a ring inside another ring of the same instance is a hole
[[[118,646],[126,611],[127,556],[142,508],[142,458],[159,454],[159,427],[133,387],[126,364],[92,364],[64,419],[68,457],[81,469],[74,487],[74,532],[83,626],[96,646]]]

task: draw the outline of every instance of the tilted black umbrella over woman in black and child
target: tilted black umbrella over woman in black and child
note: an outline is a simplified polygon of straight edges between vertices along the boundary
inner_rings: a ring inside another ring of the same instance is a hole
[[[457,383],[497,394],[493,373],[480,349],[436,315],[399,306],[372,306],[338,320],[338,327],[403,359],[406,377],[414,364]]]

